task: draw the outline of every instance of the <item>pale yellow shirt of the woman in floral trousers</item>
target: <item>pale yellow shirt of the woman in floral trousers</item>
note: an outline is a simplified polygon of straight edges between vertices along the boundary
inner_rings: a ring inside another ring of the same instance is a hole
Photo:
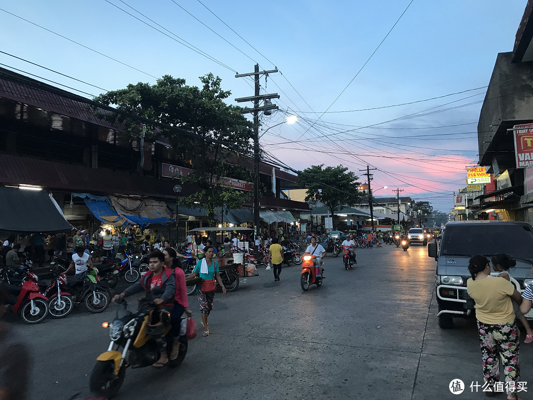
[[[505,278],[488,276],[480,281],[466,281],[468,294],[475,300],[475,316],[485,324],[514,322],[510,295],[514,285]]]

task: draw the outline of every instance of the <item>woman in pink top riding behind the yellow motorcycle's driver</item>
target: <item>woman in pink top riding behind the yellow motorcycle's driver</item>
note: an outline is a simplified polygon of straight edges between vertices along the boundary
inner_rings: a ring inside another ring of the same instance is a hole
[[[177,259],[177,253],[172,247],[165,247],[163,254],[165,254],[165,266],[174,271],[174,277],[176,278],[174,308],[170,313],[172,329],[167,334],[167,343],[173,342],[170,352],[170,359],[173,360],[179,355],[180,347],[187,345],[187,336],[185,334],[180,335],[181,316],[185,313],[188,317],[192,317],[192,312],[189,309],[189,300],[187,299],[185,273],[181,268],[181,262]]]

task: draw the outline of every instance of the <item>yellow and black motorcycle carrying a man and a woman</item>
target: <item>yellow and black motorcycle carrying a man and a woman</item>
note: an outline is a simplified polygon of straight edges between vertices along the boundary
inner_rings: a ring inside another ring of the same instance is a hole
[[[158,310],[155,304],[141,299],[138,311],[132,313],[127,309],[126,300],[120,299],[117,303],[119,308],[115,320],[111,324],[102,324],[104,328],[109,327],[111,342],[108,350],[96,358],[89,380],[91,390],[105,398],[117,394],[124,382],[127,367],[147,367],[154,364],[160,356],[156,340],[147,333],[149,313],[151,310]],[[184,321],[182,319],[182,326]],[[168,333],[170,329],[170,326],[165,327],[163,332]],[[177,358],[169,359],[169,366],[176,367],[183,361],[187,354],[187,342],[182,345]],[[171,348],[172,345],[167,345],[168,352]]]

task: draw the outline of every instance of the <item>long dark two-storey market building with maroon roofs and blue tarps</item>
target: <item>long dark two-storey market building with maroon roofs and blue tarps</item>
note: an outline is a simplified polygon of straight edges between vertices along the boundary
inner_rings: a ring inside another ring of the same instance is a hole
[[[99,118],[88,102],[0,68],[0,186],[51,192],[64,217],[91,233],[107,226],[137,226],[184,239],[186,230],[206,226],[201,205],[176,209],[176,195],[188,196],[195,186],[183,184],[181,193],[174,192],[179,181],[169,171],[187,164],[171,155],[165,138],[141,146],[139,135]],[[254,165],[244,156],[237,162]],[[297,186],[297,175],[262,162],[260,181],[275,190],[260,198],[266,228],[293,222],[309,210],[283,193]],[[225,184],[252,189],[249,182],[231,177]],[[252,204],[253,199],[240,210],[219,209],[215,219],[221,225],[252,223]]]

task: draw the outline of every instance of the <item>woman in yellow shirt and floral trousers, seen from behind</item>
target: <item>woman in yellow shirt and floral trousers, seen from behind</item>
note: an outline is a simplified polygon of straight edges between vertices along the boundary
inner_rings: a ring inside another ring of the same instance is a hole
[[[521,304],[522,297],[507,279],[490,276],[489,260],[486,257],[474,255],[469,260],[468,269],[472,278],[468,279],[466,287],[476,306],[481,365],[489,390],[486,395],[492,397],[496,394],[495,384],[499,381],[501,359],[507,399],[518,399],[516,387],[520,381],[520,338],[511,299]]]

